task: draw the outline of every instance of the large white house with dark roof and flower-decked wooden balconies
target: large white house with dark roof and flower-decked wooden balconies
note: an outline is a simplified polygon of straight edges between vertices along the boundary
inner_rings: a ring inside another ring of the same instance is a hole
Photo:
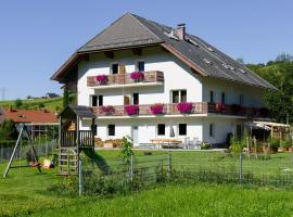
[[[183,24],[174,29],[129,13],[78,49],[52,79],[77,87],[78,105],[97,114],[98,138],[128,135],[135,144],[170,137],[225,143],[247,119],[267,117],[263,92],[276,89]],[[91,122],[80,126],[89,129]]]

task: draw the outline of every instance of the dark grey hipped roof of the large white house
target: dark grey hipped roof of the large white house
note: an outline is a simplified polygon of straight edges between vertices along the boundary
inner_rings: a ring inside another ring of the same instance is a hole
[[[176,35],[175,38],[169,37],[171,31],[176,33],[171,27],[127,13],[78,49],[71,59],[74,59],[73,62],[76,64],[78,55],[82,53],[160,43],[200,75],[276,89],[243,64],[199,37],[186,34],[184,40],[177,40]],[[59,76],[63,76],[64,68],[69,67],[71,59],[52,76],[52,79],[60,80]]]

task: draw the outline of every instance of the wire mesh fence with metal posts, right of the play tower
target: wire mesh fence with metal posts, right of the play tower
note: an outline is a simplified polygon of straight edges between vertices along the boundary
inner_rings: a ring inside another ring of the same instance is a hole
[[[106,164],[111,168],[109,174],[101,173],[90,161],[82,163],[85,192],[101,193],[106,184],[117,188],[135,184],[137,188],[161,181],[293,186],[292,153],[249,156],[245,153],[169,152],[133,155],[128,163],[123,157],[107,158]]]

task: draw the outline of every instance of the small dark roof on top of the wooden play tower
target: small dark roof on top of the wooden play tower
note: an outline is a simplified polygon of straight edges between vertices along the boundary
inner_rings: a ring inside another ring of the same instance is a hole
[[[84,117],[84,118],[95,118],[95,115],[91,111],[90,107],[84,106],[84,105],[67,105],[60,114],[59,116],[68,115],[72,116],[72,113],[75,116]]]

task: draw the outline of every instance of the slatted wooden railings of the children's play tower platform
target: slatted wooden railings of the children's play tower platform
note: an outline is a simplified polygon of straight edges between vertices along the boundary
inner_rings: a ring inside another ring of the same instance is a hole
[[[79,146],[93,146],[93,132],[91,130],[79,130],[79,140],[76,139],[76,131],[68,130],[62,131],[60,137],[61,146],[76,146],[78,142]]]

